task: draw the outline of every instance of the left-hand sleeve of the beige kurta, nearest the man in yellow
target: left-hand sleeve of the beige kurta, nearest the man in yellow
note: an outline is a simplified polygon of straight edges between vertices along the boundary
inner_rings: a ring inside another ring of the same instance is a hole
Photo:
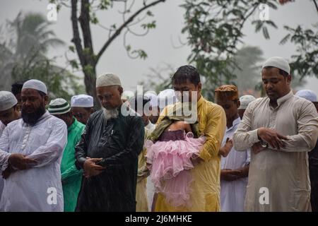
[[[259,142],[257,129],[251,131],[253,116],[253,107],[251,104],[247,106],[244,112],[244,117],[237,126],[237,131],[233,135],[233,144],[235,150],[245,151],[251,148],[254,143]]]

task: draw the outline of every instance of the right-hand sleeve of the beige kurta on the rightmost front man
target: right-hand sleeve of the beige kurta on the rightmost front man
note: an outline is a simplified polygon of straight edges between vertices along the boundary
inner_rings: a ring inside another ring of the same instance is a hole
[[[285,152],[302,152],[310,151],[316,145],[318,137],[318,114],[312,103],[305,103],[305,106],[300,110],[297,119],[298,134],[287,136],[288,141],[285,143],[285,148],[279,149]],[[278,150],[271,148],[271,150]]]

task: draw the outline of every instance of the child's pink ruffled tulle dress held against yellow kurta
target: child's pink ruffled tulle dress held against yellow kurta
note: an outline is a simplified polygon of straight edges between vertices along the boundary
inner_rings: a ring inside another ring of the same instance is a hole
[[[193,133],[181,129],[164,131],[155,143],[146,141],[151,181],[155,191],[162,193],[170,205],[191,206],[191,158],[199,155],[205,141],[204,136],[194,138]]]

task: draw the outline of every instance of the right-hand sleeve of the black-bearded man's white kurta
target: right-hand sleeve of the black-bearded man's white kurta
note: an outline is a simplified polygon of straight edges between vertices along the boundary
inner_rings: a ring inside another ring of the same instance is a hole
[[[37,148],[27,157],[37,161],[33,167],[43,167],[56,161],[62,154],[67,141],[67,128],[64,121],[54,122],[52,131],[45,145]]]

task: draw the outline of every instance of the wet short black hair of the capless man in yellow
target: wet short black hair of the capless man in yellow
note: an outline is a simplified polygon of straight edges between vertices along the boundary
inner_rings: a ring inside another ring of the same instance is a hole
[[[186,83],[187,81],[194,85],[201,83],[199,71],[191,65],[180,66],[171,79],[172,83]]]

